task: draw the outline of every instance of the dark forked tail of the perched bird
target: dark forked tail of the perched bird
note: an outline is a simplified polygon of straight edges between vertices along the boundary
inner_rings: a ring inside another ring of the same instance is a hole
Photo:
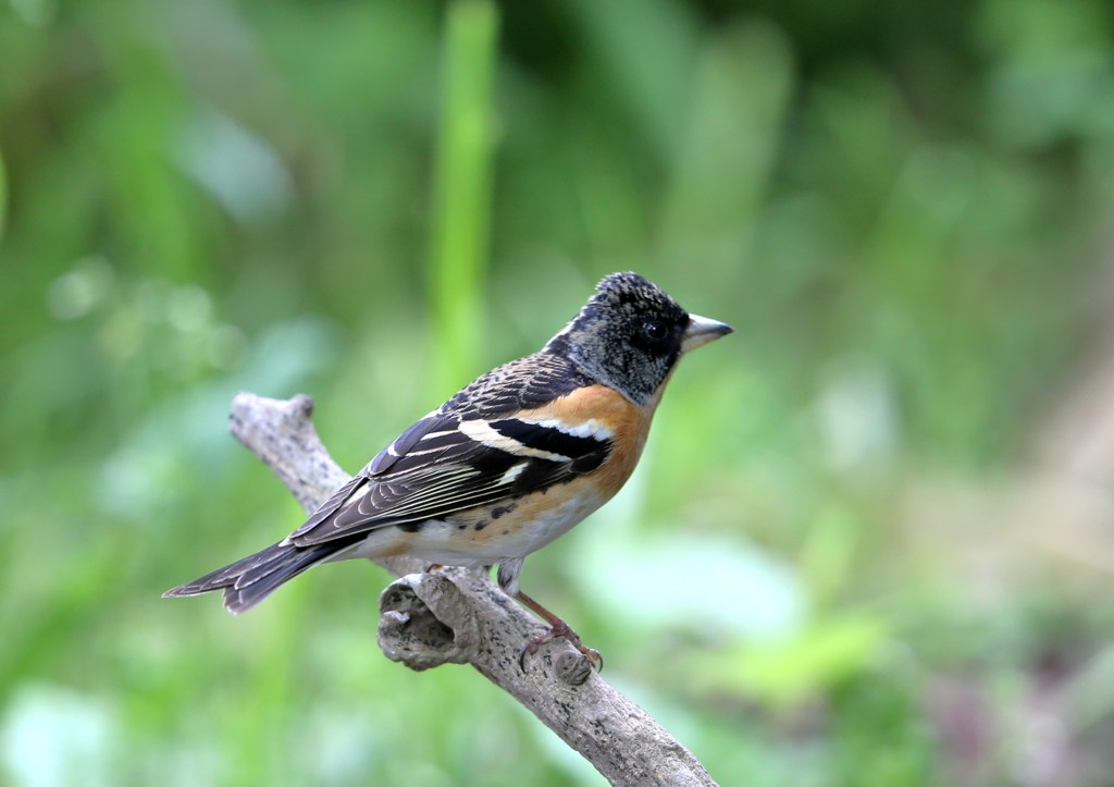
[[[193,582],[172,587],[164,597],[201,595],[224,589],[224,606],[240,614],[271,595],[277,587],[349,546],[343,541],[294,546],[272,544]]]

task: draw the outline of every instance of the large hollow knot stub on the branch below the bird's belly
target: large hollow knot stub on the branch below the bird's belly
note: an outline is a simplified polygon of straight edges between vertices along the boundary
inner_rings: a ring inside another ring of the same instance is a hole
[[[414,671],[476,658],[475,608],[442,572],[407,574],[379,596],[379,647]]]

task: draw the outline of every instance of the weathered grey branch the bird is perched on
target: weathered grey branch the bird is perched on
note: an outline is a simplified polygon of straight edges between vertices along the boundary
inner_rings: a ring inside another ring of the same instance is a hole
[[[313,400],[238,394],[232,433],[312,512],[350,478],[310,421]],[[401,577],[380,596],[379,643],[414,670],[471,664],[525,705],[613,785],[715,785],[704,766],[646,711],[612,688],[587,659],[554,640],[519,665],[541,624],[478,571],[423,573],[416,560],[382,565]]]

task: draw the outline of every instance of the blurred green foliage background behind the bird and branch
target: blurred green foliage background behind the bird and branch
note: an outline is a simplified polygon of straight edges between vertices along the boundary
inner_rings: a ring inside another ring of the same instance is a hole
[[[724,785],[1114,781],[1114,6],[0,3],[0,783],[593,785],[226,434],[354,470],[637,270],[736,333],[525,587]]]

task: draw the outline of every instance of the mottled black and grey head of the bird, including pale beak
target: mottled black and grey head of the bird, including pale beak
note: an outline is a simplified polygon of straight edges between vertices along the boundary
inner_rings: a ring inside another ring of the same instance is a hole
[[[546,349],[568,356],[586,375],[642,405],[682,354],[731,331],[723,322],[690,314],[637,273],[613,273]]]

